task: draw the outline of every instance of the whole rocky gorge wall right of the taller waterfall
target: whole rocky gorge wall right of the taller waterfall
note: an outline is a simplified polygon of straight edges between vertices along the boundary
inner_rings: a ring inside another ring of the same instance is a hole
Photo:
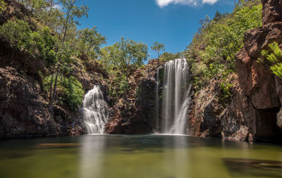
[[[229,76],[232,101],[221,101],[219,83],[211,82],[195,96],[189,134],[248,141],[281,138],[281,80],[257,59],[273,42],[282,47],[282,1],[263,0],[262,4],[262,27],[245,34],[244,46],[235,56],[238,75]]]

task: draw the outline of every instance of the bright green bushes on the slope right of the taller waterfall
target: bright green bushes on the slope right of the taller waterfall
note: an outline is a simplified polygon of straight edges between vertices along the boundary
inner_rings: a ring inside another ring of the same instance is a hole
[[[195,34],[185,56],[192,62],[194,87],[199,90],[209,80],[220,79],[235,71],[235,53],[243,46],[245,32],[262,25],[262,4],[257,1],[240,1],[231,14],[216,13],[212,20],[202,20],[202,27]],[[229,82],[223,82],[221,89],[226,96]]]

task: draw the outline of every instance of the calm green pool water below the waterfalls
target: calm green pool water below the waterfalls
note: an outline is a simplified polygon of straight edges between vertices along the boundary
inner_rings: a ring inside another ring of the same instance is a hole
[[[190,136],[85,135],[0,141],[1,178],[282,177],[280,161],[282,146]]]

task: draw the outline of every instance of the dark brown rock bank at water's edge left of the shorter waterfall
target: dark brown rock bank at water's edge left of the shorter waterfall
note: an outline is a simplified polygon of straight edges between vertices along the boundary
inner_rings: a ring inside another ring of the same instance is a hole
[[[54,106],[51,115],[40,84],[11,67],[0,68],[0,137],[77,135],[81,113]]]

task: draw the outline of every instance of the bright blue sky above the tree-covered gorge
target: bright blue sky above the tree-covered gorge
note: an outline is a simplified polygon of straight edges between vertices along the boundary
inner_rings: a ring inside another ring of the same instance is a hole
[[[231,12],[234,0],[80,0],[90,7],[89,17],[80,19],[80,27],[97,26],[108,38],[107,46],[121,37],[147,44],[149,58],[157,58],[150,49],[161,42],[167,52],[183,51],[206,15]]]

